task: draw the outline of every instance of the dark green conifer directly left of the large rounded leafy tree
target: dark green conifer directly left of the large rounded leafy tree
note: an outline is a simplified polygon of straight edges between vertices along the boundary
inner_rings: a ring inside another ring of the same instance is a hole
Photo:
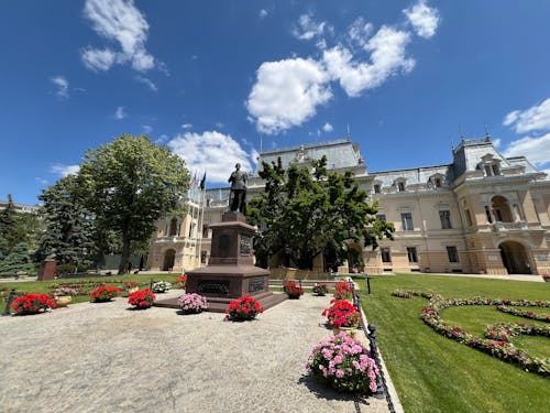
[[[87,264],[94,251],[95,222],[85,208],[74,175],[61,178],[38,196],[44,231],[36,259],[55,259],[59,264]]]

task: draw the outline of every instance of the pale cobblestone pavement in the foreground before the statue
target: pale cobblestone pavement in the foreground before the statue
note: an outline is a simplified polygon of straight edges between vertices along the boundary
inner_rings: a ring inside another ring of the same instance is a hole
[[[306,294],[248,323],[131,311],[121,297],[1,317],[0,411],[387,412],[385,400],[355,400],[306,374],[311,347],[330,334],[329,300]]]

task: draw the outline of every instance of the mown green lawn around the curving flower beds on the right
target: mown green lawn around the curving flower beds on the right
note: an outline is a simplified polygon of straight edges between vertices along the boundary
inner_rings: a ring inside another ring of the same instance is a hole
[[[378,346],[406,412],[546,412],[550,380],[522,371],[430,329],[419,318],[428,300],[397,298],[396,289],[433,291],[449,298],[476,295],[550,301],[548,284],[437,275],[389,275],[371,279],[372,294],[362,283],[362,304],[375,324]],[[548,308],[539,308],[541,313]],[[483,333],[487,324],[543,324],[492,307],[451,307],[442,317]],[[550,357],[549,338],[521,336],[517,347],[535,357]]]

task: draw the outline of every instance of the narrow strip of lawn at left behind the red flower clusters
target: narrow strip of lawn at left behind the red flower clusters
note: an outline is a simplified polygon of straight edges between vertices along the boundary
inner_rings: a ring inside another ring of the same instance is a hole
[[[138,281],[140,283],[148,283],[151,279],[154,281],[169,281],[174,282],[176,278],[178,278],[180,274],[178,273],[173,273],[173,274],[125,274],[125,275],[102,275],[102,276],[89,276],[89,278],[81,278],[81,279],[59,279],[59,280],[51,280],[51,281],[22,281],[22,282],[2,282],[0,283],[0,289],[15,289],[18,292],[25,292],[28,294],[30,293],[35,293],[35,294],[41,294],[41,293],[47,293],[47,294],[53,294],[55,291],[55,287],[52,289],[52,285],[54,284],[62,284],[62,283],[78,283],[78,282],[87,282],[87,281],[99,281],[99,282],[106,282],[108,283],[107,285],[116,285],[116,286],[123,286],[127,281]],[[117,281],[117,284],[111,284],[110,281]],[[73,297],[72,304],[77,304],[77,303],[84,303],[90,301],[90,297],[88,295],[79,295]],[[0,304],[0,311],[3,312],[4,308],[4,301],[1,301]]]

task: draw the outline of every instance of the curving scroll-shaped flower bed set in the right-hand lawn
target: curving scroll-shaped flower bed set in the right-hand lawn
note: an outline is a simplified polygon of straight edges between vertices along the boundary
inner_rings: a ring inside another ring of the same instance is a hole
[[[408,293],[408,294],[404,294]],[[425,296],[430,300],[430,303],[428,306],[422,308],[422,313],[420,315],[420,318],[428,325],[430,326],[433,330],[437,333],[441,334],[442,336],[446,336],[448,338],[451,338],[453,340],[457,340],[461,344],[464,344],[469,347],[476,348],[481,351],[487,352],[494,357],[499,358],[501,360],[510,362],[513,365],[519,366],[526,371],[532,371],[537,374],[540,374],[542,377],[550,377],[550,361],[549,360],[541,360],[538,358],[530,357],[527,352],[519,350],[514,347],[512,343],[509,343],[507,339],[503,339],[503,337],[512,337],[514,334],[513,332],[531,332],[529,333],[530,335],[539,335],[539,329],[538,327],[535,326],[529,326],[529,329],[525,327],[526,325],[510,325],[513,327],[506,327],[510,332],[508,333],[505,327],[497,327],[496,330],[494,329],[488,329],[487,332],[492,332],[491,334],[495,335],[496,339],[493,338],[483,338],[483,337],[476,337],[470,333],[468,333],[465,329],[459,326],[453,326],[450,323],[446,322],[444,319],[441,318],[440,312],[443,311],[444,308],[449,308],[451,306],[460,306],[460,305],[502,305],[502,304],[507,304],[507,305],[515,305],[515,306],[538,306],[538,307],[548,307],[550,306],[550,302],[544,302],[544,301],[537,301],[537,302],[530,302],[527,300],[518,300],[518,301],[512,301],[508,298],[504,300],[498,300],[498,298],[487,298],[487,297],[473,297],[473,298],[453,298],[453,300],[447,300],[443,298],[440,295],[433,294],[433,293],[422,293],[418,291],[403,291],[403,290],[397,290],[392,293],[392,295],[395,296]],[[519,327],[517,327],[519,326]],[[524,327],[521,327],[524,326]],[[504,332],[503,332],[504,328]],[[546,332],[546,330],[542,330]],[[517,333],[517,334],[528,334],[528,333]],[[542,333],[540,335],[547,335],[546,333]]]

